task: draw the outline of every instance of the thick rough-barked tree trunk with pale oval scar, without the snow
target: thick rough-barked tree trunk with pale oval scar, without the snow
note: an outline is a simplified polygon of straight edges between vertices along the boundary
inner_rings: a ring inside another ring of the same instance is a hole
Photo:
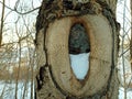
[[[118,99],[119,23],[117,0],[111,1],[43,0],[36,21],[36,99]],[[79,31],[70,37],[76,24],[87,37],[77,36]],[[73,48],[69,41],[76,37],[82,38]],[[90,44],[86,44],[87,38]],[[70,52],[90,52],[89,70],[82,80],[73,73]]]

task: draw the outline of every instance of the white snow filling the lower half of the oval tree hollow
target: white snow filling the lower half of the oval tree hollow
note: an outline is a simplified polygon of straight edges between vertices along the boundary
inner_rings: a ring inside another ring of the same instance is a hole
[[[90,53],[82,53],[77,55],[69,54],[72,69],[78,79],[84,79],[88,74],[89,55]]]

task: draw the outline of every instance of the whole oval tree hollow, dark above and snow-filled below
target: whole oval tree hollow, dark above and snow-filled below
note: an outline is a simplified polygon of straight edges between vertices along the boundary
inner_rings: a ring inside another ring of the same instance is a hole
[[[68,40],[69,59],[74,75],[82,81],[89,70],[90,43],[81,23],[72,26]]]

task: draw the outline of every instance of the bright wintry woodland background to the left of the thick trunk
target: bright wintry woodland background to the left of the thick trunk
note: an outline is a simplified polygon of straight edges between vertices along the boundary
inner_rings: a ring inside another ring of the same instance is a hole
[[[38,4],[40,0],[0,0],[0,98],[33,99]]]

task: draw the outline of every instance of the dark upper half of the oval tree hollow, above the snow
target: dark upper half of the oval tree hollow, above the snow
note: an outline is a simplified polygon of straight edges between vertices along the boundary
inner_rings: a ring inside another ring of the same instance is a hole
[[[76,23],[72,26],[68,41],[69,54],[81,54],[90,52],[90,42],[85,26]]]

